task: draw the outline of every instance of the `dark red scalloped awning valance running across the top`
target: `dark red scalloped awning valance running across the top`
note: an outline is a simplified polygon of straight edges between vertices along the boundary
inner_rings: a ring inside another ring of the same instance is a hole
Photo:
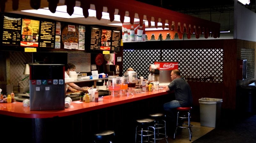
[[[0,9],[4,12],[5,2],[7,0],[0,0]],[[138,15],[140,19],[140,24],[143,24],[143,20],[154,21],[155,27],[158,27],[158,22],[162,23],[162,28],[165,28],[165,24],[169,25],[169,31],[172,33],[180,34],[186,32],[188,38],[190,35],[195,33],[196,37],[199,38],[200,35],[204,34],[205,38],[208,38],[211,34],[212,37],[220,37],[220,24],[204,20],[197,17],[192,17],[186,14],[175,12],[172,10],[167,10],[157,6],[153,6],[146,3],[141,3],[135,0],[77,0],[80,1],[80,7],[83,9],[83,15],[85,18],[89,16],[88,9],[90,4],[95,5],[96,17],[101,19],[103,7],[107,7],[107,12],[109,13],[110,21],[114,20],[114,12],[117,9],[118,15],[120,15],[120,21],[124,22],[124,17],[126,11],[129,13],[130,23],[133,24],[135,14]],[[51,12],[56,12],[57,4],[59,0],[48,0],[49,9]],[[30,6],[33,9],[40,8],[40,0],[30,0]],[[67,13],[72,15],[74,12],[76,1],[65,0],[65,5],[67,6]],[[19,5],[19,0],[12,0],[12,9],[17,10]],[[151,23],[149,22],[149,27]]]

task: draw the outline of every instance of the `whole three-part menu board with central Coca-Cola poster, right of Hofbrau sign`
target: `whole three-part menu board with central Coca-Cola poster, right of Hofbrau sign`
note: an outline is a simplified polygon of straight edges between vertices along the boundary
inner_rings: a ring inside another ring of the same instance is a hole
[[[90,34],[90,50],[120,50],[121,31],[91,27]]]

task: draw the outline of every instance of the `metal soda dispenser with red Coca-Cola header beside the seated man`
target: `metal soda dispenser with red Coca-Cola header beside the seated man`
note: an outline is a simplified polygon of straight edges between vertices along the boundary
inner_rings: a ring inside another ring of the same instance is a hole
[[[159,70],[159,84],[169,84],[171,79],[171,72],[178,69],[177,61],[155,61],[154,64]]]

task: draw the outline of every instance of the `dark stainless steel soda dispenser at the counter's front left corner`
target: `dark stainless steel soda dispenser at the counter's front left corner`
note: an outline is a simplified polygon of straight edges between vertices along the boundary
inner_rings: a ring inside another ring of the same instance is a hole
[[[65,66],[30,65],[30,111],[65,109]]]

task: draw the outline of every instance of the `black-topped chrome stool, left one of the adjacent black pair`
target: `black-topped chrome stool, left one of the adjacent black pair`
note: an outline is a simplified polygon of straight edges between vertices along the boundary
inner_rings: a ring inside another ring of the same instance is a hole
[[[136,135],[135,142],[137,143],[137,135],[140,136],[138,142],[154,142],[156,143],[156,134],[155,134],[155,120],[154,119],[138,119],[136,120]],[[152,141],[154,140],[154,141]]]

